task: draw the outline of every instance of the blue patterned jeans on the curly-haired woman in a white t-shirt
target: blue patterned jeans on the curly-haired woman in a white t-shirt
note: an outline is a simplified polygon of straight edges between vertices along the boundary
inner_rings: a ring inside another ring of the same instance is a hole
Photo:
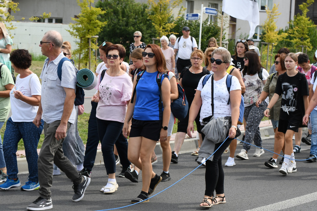
[[[7,164],[8,178],[18,178],[18,166],[16,161],[16,151],[18,143],[23,139],[26,161],[29,168],[29,181],[38,182],[37,169],[37,144],[40,140],[44,121],[39,128],[33,122],[13,122],[11,117],[7,121],[7,125],[3,137],[4,159]]]

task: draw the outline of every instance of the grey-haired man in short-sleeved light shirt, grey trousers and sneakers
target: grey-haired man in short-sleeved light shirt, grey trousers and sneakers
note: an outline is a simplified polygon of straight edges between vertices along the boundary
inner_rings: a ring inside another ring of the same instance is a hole
[[[44,141],[37,160],[40,196],[30,204],[28,210],[46,210],[53,208],[51,187],[53,182],[53,162],[65,172],[74,183],[73,201],[80,201],[90,183],[90,178],[82,176],[73,164],[64,156],[62,143],[71,124],[75,121],[76,71],[70,61],[62,64],[61,80],[57,76],[57,67],[64,57],[61,51],[63,39],[57,31],[44,34],[40,47],[48,58],[44,62],[40,78],[42,79],[42,98],[33,123],[39,127],[44,120]],[[67,100],[66,100],[67,99]]]

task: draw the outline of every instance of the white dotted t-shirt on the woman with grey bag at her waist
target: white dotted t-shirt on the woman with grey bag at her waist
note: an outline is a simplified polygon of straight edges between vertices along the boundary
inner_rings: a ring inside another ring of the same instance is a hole
[[[228,73],[225,77],[220,80],[214,80],[214,117],[227,117],[231,116],[231,103],[227,105],[229,100],[229,92],[226,85],[226,80],[228,77]],[[204,76],[206,77],[206,76]],[[200,110],[200,119],[202,122],[203,118],[209,117],[212,115],[211,110],[211,76],[203,87],[202,77],[198,83],[197,90],[201,91],[201,98],[203,100],[203,104]],[[232,76],[230,91],[232,90],[241,90],[241,85],[236,76]]]

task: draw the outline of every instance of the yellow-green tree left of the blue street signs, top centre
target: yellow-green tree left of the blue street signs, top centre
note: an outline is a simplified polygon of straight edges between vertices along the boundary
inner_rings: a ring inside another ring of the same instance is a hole
[[[176,25],[175,21],[177,21],[180,16],[177,16],[171,22],[171,13],[179,4],[181,4],[183,0],[148,0],[148,4],[150,5],[149,19],[152,21],[154,29],[156,30],[157,38],[160,38],[163,35],[173,34],[171,31],[172,28]]]

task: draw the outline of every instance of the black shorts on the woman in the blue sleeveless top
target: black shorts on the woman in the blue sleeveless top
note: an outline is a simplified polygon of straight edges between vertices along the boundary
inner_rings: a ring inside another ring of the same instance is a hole
[[[129,137],[145,137],[154,141],[159,141],[162,129],[162,120],[137,120],[132,118],[131,131]]]

